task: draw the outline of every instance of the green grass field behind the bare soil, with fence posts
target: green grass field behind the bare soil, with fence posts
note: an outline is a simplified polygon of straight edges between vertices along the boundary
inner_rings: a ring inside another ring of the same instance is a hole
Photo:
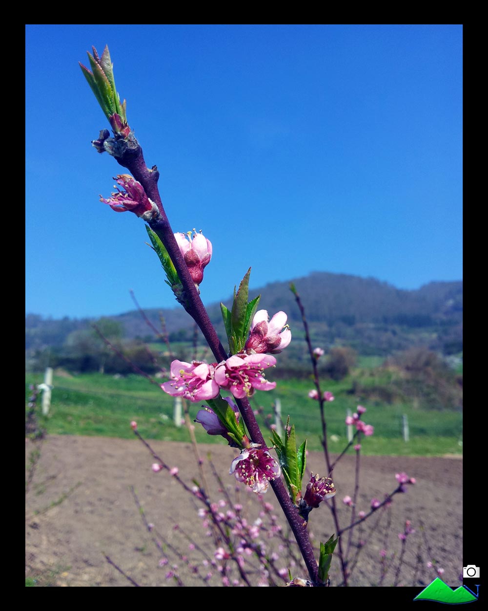
[[[270,377],[270,379],[272,379]],[[26,375],[26,409],[29,384],[40,384],[41,374]],[[45,422],[48,433],[65,435],[95,435],[131,438],[130,422],[136,420],[138,430],[146,439],[188,441],[185,426],[173,422],[173,397],[159,386],[137,375],[115,379],[110,375],[84,374],[73,377],[54,376],[54,389],[49,415]],[[307,438],[309,450],[320,450],[320,415],[318,403],[307,396],[313,385],[307,381],[280,380],[270,392],[256,392],[251,400],[254,409],[263,408],[258,422],[273,412],[272,403],[281,401],[282,419],[290,415],[296,425],[298,441]],[[348,409],[356,410],[358,400],[348,393],[348,378],[323,383],[336,399],[326,403],[329,449],[341,452],[346,444],[345,417]],[[38,398],[40,414],[40,397]],[[364,422],[375,426],[375,434],[363,437],[362,451],[368,455],[442,456],[462,453],[462,414],[456,411],[414,409],[407,404],[364,404]],[[194,419],[200,404],[188,403],[190,419]],[[409,422],[409,442],[402,437],[402,417]],[[40,417],[41,418],[41,417]],[[268,420],[273,422],[274,419]],[[196,439],[205,443],[225,443],[221,437],[209,436],[195,425]],[[265,439],[268,437],[264,434]],[[353,450],[350,450],[352,452]]]

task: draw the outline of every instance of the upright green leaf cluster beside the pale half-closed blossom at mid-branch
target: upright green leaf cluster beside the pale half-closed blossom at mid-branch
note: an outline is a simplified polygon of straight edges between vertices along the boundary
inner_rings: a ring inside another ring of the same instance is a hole
[[[257,304],[261,298],[256,298],[248,302],[249,296],[249,276],[251,268],[241,280],[239,290],[235,292],[232,309],[229,310],[223,303],[220,304],[224,326],[229,340],[229,350],[231,354],[240,354],[244,350],[245,343],[249,335],[249,329],[256,313]]]

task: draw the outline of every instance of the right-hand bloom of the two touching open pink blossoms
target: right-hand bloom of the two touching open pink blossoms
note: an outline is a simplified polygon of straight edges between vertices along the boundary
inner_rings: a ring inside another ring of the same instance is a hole
[[[248,354],[241,357],[234,354],[215,367],[214,380],[218,386],[230,390],[237,399],[251,397],[254,389],[273,390],[276,387],[276,382],[268,382],[262,375],[265,368],[274,365],[274,356]]]

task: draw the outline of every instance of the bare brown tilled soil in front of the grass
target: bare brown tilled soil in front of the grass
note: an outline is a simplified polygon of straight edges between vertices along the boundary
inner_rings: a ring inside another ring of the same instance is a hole
[[[178,466],[179,475],[188,485],[192,486],[193,478],[200,480],[190,444],[154,441],[151,445],[168,465]],[[190,551],[190,541],[201,546],[210,558],[215,549],[198,517],[201,505],[167,471],[152,472],[154,459],[137,439],[52,435],[40,445],[26,439],[27,472],[32,452],[38,447],[40,458],[26,495],[26,576],[44,586],[132,587],[107,562],[109,556],[141,586],[176,585],[166,577],[174,563],[185,586],[221,585],[218,571],[214,570],[212,579],[204,584],[171,552],[172,545],[191,562],[198,563],[202,552]],[[248,494],[242,484],[235,491],[236,482],[229,475],[229,466],[236,450],[224,445],[199,446],[206,489],[212,500],[217,502],[223,494],[207,463],[207,452],[211,453],[215,469],[232,499],[237,498],[245,506],[243,512],[248,512],[249,520],[257,517],[259,499],[252,491]],[[310,453],[307,466],[312,472],[326,475],[323,464],[320,453]],[[353,496],[354,467],[354,456],[346,455],[334,469],[341,525],[347,524],[351,512],[342,499]],[[351,585],[386,586],[395,580],[398,585],[427,585],[436,577],[434,569],[427,567],[429,561],[436,561],[444,569],[442,578],[447,584],[460,584],[462,459],[363,456],[357,511],[368,511],[373,497],[382,500],[384,494],[392,492],[397,486],[395,473],[401,471],[415,477],[417,483],[409,486],[406,494],[395,495],[390,508],[373,514],[362,530],[354,530],[351,558],[357,553],[357,563],[351,571]],[[130,486],[137,492],[147,521],[154,524],[152,532],[143,523]],[[264,500],[273,505],[279,521],[285,524],[271,489]],[[331,512],[323,505],[312,511],[309,518],[309,529],[317,544],[334,533]],[[222,511],[226,509],[228,505]],[[415,532],[407,538],[402,555],[398,533],[403,532],[406,519]],[[169,565],[159,565],[162,554],[154,545],[153,536],[165,543]],[[344,546],[348,543],[347,533],[343,534],[342,543]],[[273,541],[266,544],[272,546]],[[382,549],[387,551],[388,568],[383,580]],[[282,565],[286,565],[284,558],[277,561],[277,566]],[[209,569],[212,567],[203,569],[202,574]],[[293,577],[306,577],[298,566],[292,567],[292,573]],[[341,581],[339,562],[334,557],[331,585]]]

